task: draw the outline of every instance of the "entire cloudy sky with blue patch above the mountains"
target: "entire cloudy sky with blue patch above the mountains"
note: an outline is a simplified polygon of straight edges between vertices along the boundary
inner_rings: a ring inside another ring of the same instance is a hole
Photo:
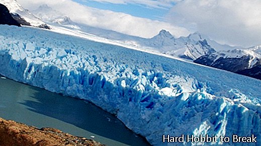
[[[261,0],[18,0],[29,10],[48,4],[73,21],[150,38],[198,31],[220,43],[261,44]]]

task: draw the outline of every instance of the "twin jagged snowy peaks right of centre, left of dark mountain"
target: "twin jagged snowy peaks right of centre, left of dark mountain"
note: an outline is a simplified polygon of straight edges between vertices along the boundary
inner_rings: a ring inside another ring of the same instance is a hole
[[[166,54],[192,60],[215,52],[215,49],[199,33],[192,33],[187,37],[174,38],[168,31],[161,30],[158,35],[145,41],[145,45],[156,48]]]

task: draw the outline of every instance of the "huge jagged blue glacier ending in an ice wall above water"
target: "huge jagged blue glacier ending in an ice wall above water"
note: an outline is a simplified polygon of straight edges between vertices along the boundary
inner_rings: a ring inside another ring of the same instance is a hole
[[[2,75],[91,101],[153,145],[177,145],[162,134],[252,133],[261,144],[261,80],[38,28],[0,29]]]

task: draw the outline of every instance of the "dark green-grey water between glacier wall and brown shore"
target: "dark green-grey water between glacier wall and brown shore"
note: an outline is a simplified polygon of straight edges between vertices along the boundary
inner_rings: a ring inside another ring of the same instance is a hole
[[[54,127],[107,145],[149,145],[112,114],[83,100],[0,78],[0,117]]]

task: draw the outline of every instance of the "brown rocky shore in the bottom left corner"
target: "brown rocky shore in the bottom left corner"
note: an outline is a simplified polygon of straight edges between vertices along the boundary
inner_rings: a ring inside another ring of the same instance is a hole
[[[0,118],[0,145],[104,145],[55,128],[36,128]]]

